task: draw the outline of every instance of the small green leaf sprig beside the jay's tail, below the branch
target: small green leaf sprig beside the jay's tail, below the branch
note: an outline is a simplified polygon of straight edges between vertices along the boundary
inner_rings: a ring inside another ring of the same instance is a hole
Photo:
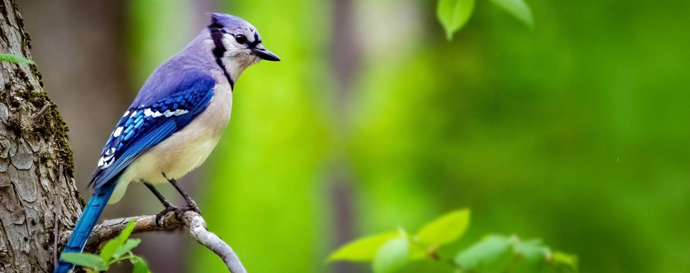
[[[132,249],[141,243],[141,239],[130,239],[135,220],[132,219],[127,227],[115,239],[106,242],[101,249],[101,254],[90,253],[63,253],[60,259],[75,265],[85,267],[88,272],[108,271],[110,265],[120,261],[130,261],[134,265],[133,272],[148,273],[148,264],[143,258],[132,253]]]

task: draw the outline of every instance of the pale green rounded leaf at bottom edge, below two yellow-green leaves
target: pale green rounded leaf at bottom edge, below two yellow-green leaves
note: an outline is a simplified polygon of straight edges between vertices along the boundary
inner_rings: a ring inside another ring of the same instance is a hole
[[[375,273],[397,272],[404,267],[409,259],[410,240],[406,234],[400,234],[398,238],[384,243],[376,252],[372,263]]]

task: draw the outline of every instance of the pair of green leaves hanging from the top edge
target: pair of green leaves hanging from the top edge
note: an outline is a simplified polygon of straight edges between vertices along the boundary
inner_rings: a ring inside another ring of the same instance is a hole
[[[506,10],[524,23],[530,30],[534,28],[532,11],[524,0],[491,0],[497,7]],[[453,39],[453,33],[460,30],[469,21],[474,11],[475,0],[439,0],[436,16],[441,22],[446,37]]]

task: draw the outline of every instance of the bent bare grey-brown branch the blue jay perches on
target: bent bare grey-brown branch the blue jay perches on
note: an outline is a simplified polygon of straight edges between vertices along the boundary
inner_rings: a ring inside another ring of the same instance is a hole
[[[239,257],[235,254],[230,245],[225,243],[213,232],[206,229],[206,221],[201,214],[193,211],[187,211],[179,215],[179,219],[176,216],[176,212],[169,212],[163,219],[161,219],[161,226],[156,225],[156,216],[135,216],[129,218],[112,219],[103,221],[100,225],[97,225],[91,237],[89,238],[84,250],[86,252],[95,253],[99,249],[101,243],[108,241],[117,237],[122,230],[128,225],[128,223],[135,219],[135,228],[132,233],[140,232],[155,232],[155,231],[170,231],[177,230],[178,228],[188,227],[189,234],[201,245],[206,246],[209,250],[215,252],[223,262],[228,267],[228,270],[232,273],[246,273],[242,262],[239,261]],[[66,232],[61,236],[63,241],[67,241],[70,236],[70,232]]]

